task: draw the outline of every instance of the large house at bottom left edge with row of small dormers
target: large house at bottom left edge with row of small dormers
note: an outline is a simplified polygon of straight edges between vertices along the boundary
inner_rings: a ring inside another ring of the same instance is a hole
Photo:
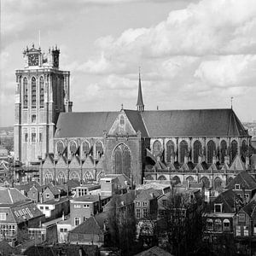
[[[44,214],[18,189],[0,188],[0,239],[11,245],[23,240],[27,228],[44,221]]]

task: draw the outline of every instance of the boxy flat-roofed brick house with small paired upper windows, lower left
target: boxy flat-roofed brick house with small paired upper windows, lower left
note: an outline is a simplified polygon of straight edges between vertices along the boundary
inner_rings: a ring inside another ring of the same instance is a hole
[[[90,216],[102,212],[102,207],[110,201],[110,196],[83,195],[70,200],[70,218],[73,227],[78,226]]]

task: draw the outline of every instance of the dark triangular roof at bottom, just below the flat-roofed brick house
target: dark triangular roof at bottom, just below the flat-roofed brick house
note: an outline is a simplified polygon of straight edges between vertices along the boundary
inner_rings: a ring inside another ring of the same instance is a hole
[[[106,218],[108,218],[107,212],[96,214],[85,220],[82,224],[79,224],[79,226],[71,230],[70,233],[102,235],[105,232],[104,223]]]

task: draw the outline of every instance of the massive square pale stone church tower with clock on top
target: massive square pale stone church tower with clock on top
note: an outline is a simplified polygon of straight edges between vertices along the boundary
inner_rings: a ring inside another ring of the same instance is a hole
[[[59,113],[72,111],[70,73],[59,70],[59,55],[57,46],[44,54],[32,44],[23,52],[24,69],[16,70],[15,160],[26,166],[54,152]]]

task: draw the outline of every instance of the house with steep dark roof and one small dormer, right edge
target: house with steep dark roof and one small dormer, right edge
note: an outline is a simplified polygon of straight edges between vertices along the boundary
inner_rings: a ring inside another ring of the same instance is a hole
[[[238,160],[238,158],[236,158],[236,160]],[[241,199],[249,202],[256,192],[256,180],[247,171],[242,171],[230,181],[225,189],[232,189]]]

